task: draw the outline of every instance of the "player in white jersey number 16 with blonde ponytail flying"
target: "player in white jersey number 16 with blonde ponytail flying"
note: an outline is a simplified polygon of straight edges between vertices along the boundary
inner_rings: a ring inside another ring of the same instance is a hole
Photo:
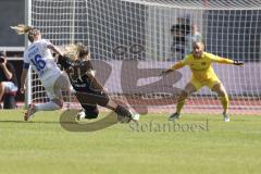
[[[58,67],[51,51],[63,55],[55,46],[50,41],[42,39],[40,30],[25,25],[18,25],[12,27],[18,34],[27,34],[28,40],[32,45],[24,52],[24,65],[21,76],[21,92],[23,94],[25,88],[25,79],[28,73],[29,65],[38,74],[42,86],[47,90],[47,95],[50,99],[49,102],[30,104],[25,113],[24,120],[27,121],[37,111],[53,111],[61,109],[63,105],[62,90],[70,91],[71,83],[65,73],[62,73]]]

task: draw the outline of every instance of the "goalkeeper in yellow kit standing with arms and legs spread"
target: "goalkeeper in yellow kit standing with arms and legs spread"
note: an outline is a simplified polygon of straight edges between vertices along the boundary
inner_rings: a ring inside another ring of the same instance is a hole
[[[172,71],[176,71],[185,65],[188,65],[192,74],[191,80],[186,85],[185,89],[182,90],[177,99],[176,112],[169,117],[169,121],[179,119],[182,108],[189,95],[199,90],[203,86],[208,86],[212,91],[215,91],[219,95],[223,107],[224,122],[229,122],[229,116],[226,113],[229,103],[228,97],[224,86],[214,73],[214,70],[211,65],[212,62],[243,65],[243,62],[240,61],[234,61],[204,52],[204,45],[200,41],[197,41],[194,42],[191,53],[187,54],[184,60],[175,63],[171,69],[162,72],[162,75],[165,75]]]

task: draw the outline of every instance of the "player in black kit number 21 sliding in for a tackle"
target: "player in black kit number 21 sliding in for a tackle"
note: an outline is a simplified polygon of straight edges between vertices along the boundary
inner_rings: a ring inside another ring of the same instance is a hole
[[[114,111],[121,117],[121,122],[138,121],[139,114],[132,113],[110,99],[101,83],[95,77],[87,47],[79,44],[69,47],[71,47],[71,50],[74,49],[74,55],[60,55],[58,63],[67,73],[71,84],[76,91],[75,96],[84,109],[78,113],[78,117],[97,119],[99,115],[98,105],[101,105]]]

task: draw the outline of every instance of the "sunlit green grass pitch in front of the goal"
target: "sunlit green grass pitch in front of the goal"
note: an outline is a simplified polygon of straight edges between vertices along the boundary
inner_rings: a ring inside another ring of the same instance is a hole
[[[261,171],[258,115],[232,115],[224,123],[221,115],[184,114],[170,128],[164,127],[170,125],[167,114],[147,114],[139,125],[73,133],[61,127],[61,112],[39,112],[30,122],[23,122],[22,110],[0,111],[1,174]]]

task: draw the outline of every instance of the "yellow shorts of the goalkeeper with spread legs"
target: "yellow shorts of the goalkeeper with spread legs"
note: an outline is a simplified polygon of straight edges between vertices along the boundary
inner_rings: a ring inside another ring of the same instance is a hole
[[[213,77],[201,82],[192,77],[190,84],[192,84],[197,90],[203,86],[208,86],[210,89],[212,89],[216,84],[221,84],[221,80],[217,77]]]

